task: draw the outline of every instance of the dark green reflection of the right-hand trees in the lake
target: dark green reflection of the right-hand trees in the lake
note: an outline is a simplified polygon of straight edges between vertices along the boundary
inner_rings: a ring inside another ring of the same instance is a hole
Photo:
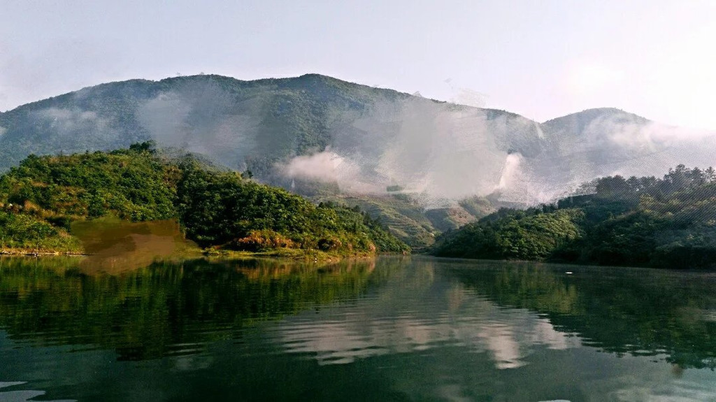
[[[659,270],[579,268],[588,274],[565,275],[538,263],[493,265],[453,273],[500,305],[546,314],[586,345],[716,368],[716,321],[706,317],[716,310],[712,280]]]

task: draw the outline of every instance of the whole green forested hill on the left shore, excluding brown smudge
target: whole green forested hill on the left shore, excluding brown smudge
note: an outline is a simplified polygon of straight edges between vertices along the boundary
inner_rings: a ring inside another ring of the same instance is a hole
[[[74,222],[177,220],[202,247],[334,253],[408,247],[357,208],[314,205],[152,143],[69,156],[27,157],[0,177],[0,247],[79,251]]]

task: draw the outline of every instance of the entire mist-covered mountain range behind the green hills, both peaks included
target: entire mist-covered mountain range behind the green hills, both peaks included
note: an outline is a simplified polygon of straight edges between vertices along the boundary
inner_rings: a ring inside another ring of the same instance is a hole
[[[0,170],[26,155],[155,139],[296,192],[407,193],[426,207],[473,195],[534,204],[604,175],[714,165],[716,136],[619,109],[544,123],[318,74],[216,75],[88,87],[0,113]]]

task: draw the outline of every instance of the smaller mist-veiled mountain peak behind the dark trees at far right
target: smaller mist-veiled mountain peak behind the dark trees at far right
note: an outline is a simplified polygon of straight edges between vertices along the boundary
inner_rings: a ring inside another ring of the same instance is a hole
[[[619,109],[589,109],[541,128],[548,145],[532,165],[555,192],[560,185],[569,189],[594,177],[658,177],[679,164],[716,163],[716,133],[659,124]]]

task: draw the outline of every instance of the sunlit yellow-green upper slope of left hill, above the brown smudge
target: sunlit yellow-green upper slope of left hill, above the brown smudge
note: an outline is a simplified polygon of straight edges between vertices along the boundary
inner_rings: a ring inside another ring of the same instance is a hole
[[[153,157],[150,147],[137,144],[130,150],[70,157],[30,155],[0,178],[0,195],[56,216],[170,219],[175,217],[170,166]]]

